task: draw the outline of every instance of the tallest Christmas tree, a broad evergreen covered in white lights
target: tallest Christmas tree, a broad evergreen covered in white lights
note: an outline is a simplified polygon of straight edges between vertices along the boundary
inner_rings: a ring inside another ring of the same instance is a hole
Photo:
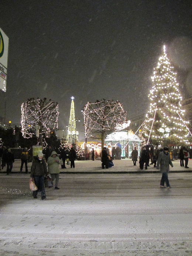
[[[153,86],[148,95],[150,109],[146,115],[144,131],[142,131],[143,136],[148,138],[152,127],[150,141],[153,144],[162,144],[164,142],[165,134],[159,131],[160,128],[170,129],[167,144],[180,145],[188,143],[188,130],[177,114],[178,112],[184,119],[185,110],[181,109],[182,96],[179,92],[176,75],[174,67],[167,57],[164,45],[163,55],[159,58],[157,67],[154,68],[154,73],[151,77]],[[189,122],[185,121],[185,123]]]

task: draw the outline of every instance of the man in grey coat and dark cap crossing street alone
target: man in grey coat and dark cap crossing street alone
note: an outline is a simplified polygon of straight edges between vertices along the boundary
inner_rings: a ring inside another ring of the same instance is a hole
[[[169,172],[169,164],[173,167],[170,154],[168,152],[169,148],[164,147],[163,151],[159,153],[157,159],[157,169],[160,168],[160,172],[162,173],[160,188],[165,188],[164,184],[166,183],[167,188],[171,188],[168,180],[168,172]]]

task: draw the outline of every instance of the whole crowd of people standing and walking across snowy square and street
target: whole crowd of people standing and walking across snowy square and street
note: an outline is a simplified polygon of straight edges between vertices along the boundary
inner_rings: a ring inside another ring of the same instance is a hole
[[[148,144],[144,146],[140,153],[139,158],[139,166],[140,169],[143,170],[145,166],[145,170],[148,169],[150,165],[154,165],[157,169],[160,168],[162,173],[162,178],[160,182],[160,187],[165,188],[164,184],[166,184],[167,188],[170,188],[169,181],[168,181],[168,171],[169,165],[173,167],[171,157],[169,154],[168,147],[164,147],[161,149],[155,148]],[[45,154],[45,160],[43,159]],[[71,165],[71,168],[75,168],[75,159],[76,159],[76,151],[73,147],[68,151],[66,147],[61,148],[59,151],[59,156],[56,153],[56,150],[52,149],[51,146],[48,146],[47,149],[42,152],[39,152],[37,156],[32,158],[32,165],[31,165],[31,174],[30,177],[34,179],[35,185],[38,187],[37,191],[33,192],[33,197],[37,198],[38,191],[41,191],[41,199],[45,199],[45,189],[44,189],[44,179],[51,176],[51,180],[55,181],[55,189],[59,190],[59,165],[61,164],[61,168],[66,168],[65,163]],[[86,160],[89,159],[89,153],[86,155]],[[109,167],[113,166],[113,159],[121,159],[121,148],[120,147],[113,147],[112,154],[110,155],[109,149],[103,147],[102,152],[100,155],[92,149],[91,152],[91,160],[94,161],[96,158],[101,157],[102,168],[108,169]],[[181,146],[179,152],[177,149],[173,150],[173,158],[177,160],[180,158],[180,165],[185,168],[188,167],[188,159],[190,157],[189,150]],[[30,154],[25,147],[21,152],[21,167],[20,171],[23,171],[23,165],[25,164],[25,173],[28,173],[28,161],[30,160]],[[131,158],[133,161],[133,165],[136,165],[138,160],[138,150],[134,147],[134,150],[131,152]],[[151,163],[150,163],[151,160]],[[185,165],[184,165],[185,161]],[[14,163],[14,155],[11,152],[11,149],[3,146],[0,148],[0,170],[3,169],[7,165],[6,173],[7,175],[11,173]]]

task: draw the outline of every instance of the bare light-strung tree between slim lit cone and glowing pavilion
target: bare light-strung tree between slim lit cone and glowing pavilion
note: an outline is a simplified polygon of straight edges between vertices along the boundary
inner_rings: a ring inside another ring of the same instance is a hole
[[[107,131],[114,132],[118,124],[127,122],[127,112],[119,101],[96,100],[95,103],[88,102],[83,110],[85,139],[87,141],[93,133],[100,133],[102,148]]]

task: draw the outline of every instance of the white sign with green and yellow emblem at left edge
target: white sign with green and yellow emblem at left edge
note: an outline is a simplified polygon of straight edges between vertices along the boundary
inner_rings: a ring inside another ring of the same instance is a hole
[[[0,28],[0,90],[6,92],[8,37]]]

